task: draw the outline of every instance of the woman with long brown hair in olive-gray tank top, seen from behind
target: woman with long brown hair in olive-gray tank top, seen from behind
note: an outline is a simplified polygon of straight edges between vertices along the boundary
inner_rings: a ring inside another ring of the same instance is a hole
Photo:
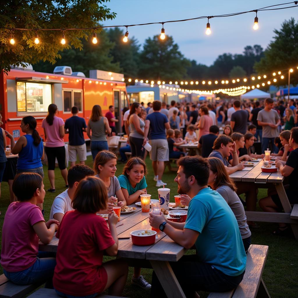
[[[92,134],[90,134],[92,132]],[[106,134],[111,133],[108,119],[103,117],[100,105],[94,105],[87,125],[87,135],[91,140],[91,153],[93,160],[101,150],[108,150]]]

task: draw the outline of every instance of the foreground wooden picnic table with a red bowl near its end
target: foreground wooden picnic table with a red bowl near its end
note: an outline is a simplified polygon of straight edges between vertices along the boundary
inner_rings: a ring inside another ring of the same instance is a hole
[[[151,229],[149,224],[149,212],[142,212],[141,207],[135,204],[136,211],[121,214],[120,221],[116,225],[118,237],[131,237],[130,232],[139,229]],[[138,259],[150,262],[168,298],[185,298],[184,292],[169,264],[177,262],[187,251],[184,247],[174,242],[164,232],[158,232],[155,243],[150,246],[133,245],[130,239],[119,239],[117,257]],[[39,250],[45,252],[57,252],[59,239],[55,236],[49,244],[39,242]]]

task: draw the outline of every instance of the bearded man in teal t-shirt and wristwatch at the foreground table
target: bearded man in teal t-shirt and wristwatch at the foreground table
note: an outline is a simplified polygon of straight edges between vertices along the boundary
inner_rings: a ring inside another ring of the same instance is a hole
[[[176,243],[198,253],[185,255],[171,267],[186,297],[195,291],[225,292],[243,279],[246,254],[234,213],[224,198],[207,186],[209,167],[201,156],[179,159],[175,181],[178,193],[192,198],[185,223],[174,223],[164,215],[150,213],[150,224]],[[165,296],[153,272],[151,297]]]

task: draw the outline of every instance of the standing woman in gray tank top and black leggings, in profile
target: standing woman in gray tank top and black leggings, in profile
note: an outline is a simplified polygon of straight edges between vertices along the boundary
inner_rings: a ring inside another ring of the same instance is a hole
[[[138,156],[144,159],[145,149],[143,147],[143,142],[145,122],[138,116],[141,111],[142,105],[133,103],[127,121],[130,126],[129,143],[131,145],[131,156]]]

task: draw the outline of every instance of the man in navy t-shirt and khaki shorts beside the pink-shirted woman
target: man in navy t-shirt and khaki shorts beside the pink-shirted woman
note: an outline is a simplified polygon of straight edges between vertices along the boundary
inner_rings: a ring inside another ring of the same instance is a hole
[[[79,109],[76,106],[72,107],[72,117],[66,119],[64,132],[69,134],[68,154],[70,166],[74,166],[79,156],[80,164],[85,164],[87,160],[86,143],[83,131],[87,132],[85,119],[78,116]]]

